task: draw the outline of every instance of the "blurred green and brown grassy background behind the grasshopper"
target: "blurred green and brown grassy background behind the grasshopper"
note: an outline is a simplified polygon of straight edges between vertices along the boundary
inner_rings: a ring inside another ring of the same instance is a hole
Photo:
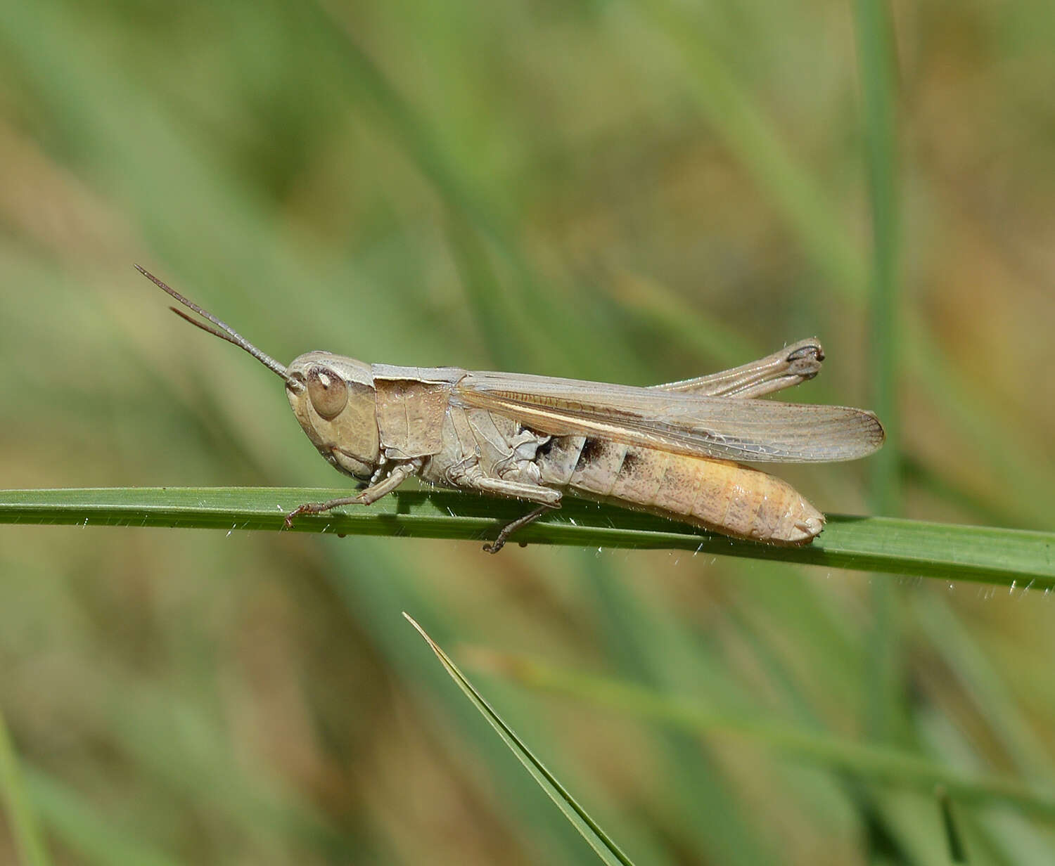
[[[139,262],[283,361],[646,385],[816,334],[791,399],[898,407],[878,469],[782,470],[819,507],[1050,527],[1055,16],[897,4],[869,187],[869,5],[0,2],[0,486],[343,483]],[[406,610],[640,863],[938,864],[932,797],[493,654],[1050,777],[1055,608],[951,578],[2,526],[0,708],[58,863],[595,862]],[[972,863],[1052,862],[956,814]]]

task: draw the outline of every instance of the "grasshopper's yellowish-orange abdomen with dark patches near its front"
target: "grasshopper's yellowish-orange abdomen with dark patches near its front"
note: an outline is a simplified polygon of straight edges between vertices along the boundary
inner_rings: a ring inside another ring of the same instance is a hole
[[[752,541],[806,544],[824,527],[790,484],[728,460],[557,437],[536,462],[543,484]]]

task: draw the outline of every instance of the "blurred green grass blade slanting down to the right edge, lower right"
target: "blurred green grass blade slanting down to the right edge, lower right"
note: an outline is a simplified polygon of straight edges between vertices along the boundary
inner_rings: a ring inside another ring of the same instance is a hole
[[[860,743],[785,724],[714,712],[635,684],[576,673],[522,656],[496,654],[488,661],[493,668],[525,686],[573,696],[608,710],[660,721],[695,734],[718,732],[742,736],[798,759],[870,782],[924,792],[935,792],[940,787],[960,803],[1010,803],[1055,821],[1055,789],[1051,787],[1040,788],[1011,776],[962,771],[885,744]]]

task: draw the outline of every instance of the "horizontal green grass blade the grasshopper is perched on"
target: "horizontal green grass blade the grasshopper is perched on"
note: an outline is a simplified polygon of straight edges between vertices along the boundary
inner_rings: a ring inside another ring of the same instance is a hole
[[[281,530],[285,515],[296,505],[346,494],[347,489],[315,487],[0,490],[0,523]],[[293,530],[484,540],[523,513],[524,505],[513,500],[446,490],[397,490],[368,508],[349,506],[300,517]],[[661,517],[570,498],[559,512],[525,526],[515,540],[692,551],[1020,590],[1055,588],[1055,533],[889,517],[828,515],[827,527],[812,544],[776,547],[707,535]]]

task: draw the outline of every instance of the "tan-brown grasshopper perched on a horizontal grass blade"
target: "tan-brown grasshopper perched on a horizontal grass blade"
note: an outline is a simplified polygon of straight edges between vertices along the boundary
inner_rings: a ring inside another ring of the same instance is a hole
[[[824,351],[803,340],[759,361],[648,388],[460,367],[366,364],[311,351],[283,366],[153,274],[136,269],[286,383],[304,432],[365,489],[286,516],[368,505],[411,476],[537,507],[484,550],[552,508],[564,493],[768,544],[808,544],[824,515],[752,463],[856,460],[883,444],[865,409],[753,398],[817,376]]]

